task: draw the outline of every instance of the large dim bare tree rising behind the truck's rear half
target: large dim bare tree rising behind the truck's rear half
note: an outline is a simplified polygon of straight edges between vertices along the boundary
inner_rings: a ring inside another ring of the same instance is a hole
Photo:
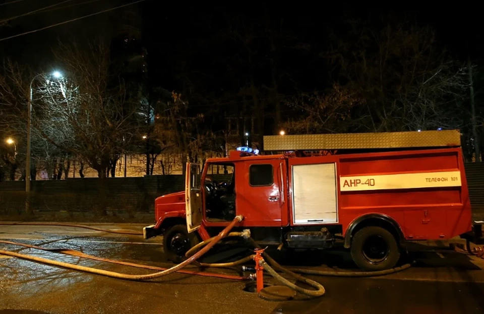
[[[464,67],[437,45],[430,27],[364,21],[347,23],[347,38],[333,36],[324,56],[333,76],[366,99],[355,115],[366,116],[359,131],[459,128],[468,84]]]

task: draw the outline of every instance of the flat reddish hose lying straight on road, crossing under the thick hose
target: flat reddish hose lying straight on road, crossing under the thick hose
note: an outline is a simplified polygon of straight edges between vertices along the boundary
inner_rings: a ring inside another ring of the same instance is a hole
[[[106,263],[111,263],[111,264],[118,264],[118,265],[124,265],[124,266],[136,267],[136,268],[143,268],[143,269],[150,269],[150,270],[157,270],[157,271],[167,270],[167,268],[162,268],[162,267],[135,264],[135,263],[116,261],[116,260],[111,260],[111,259],[104,259],[104,258],[100,258],[100,257],[97,257],[97,256],[92,256],[92,255],[82,253],[82,252],[75,250],[75,249],[46,248],[46,247],[41,247],[41,246],[36,246],[36,245],[31,245],[31,244],[17,243],[17,242],[5,241],[5,240],[0,240],[0,243],[17,245],[17,246],[24,246],[24,247],[34,248],[34,249],[40,249],[40,250],[44,250],[44,251],[47,251],[47,252],[66,254],[66,255],[70,255],[70,256],[85,258],[85,259],[94,260],[94,261],[106,262]],[[183,269],[177,271],[177,273],[196,275],[196,276],[205,276],[205,277],[216,277],[216,278],[231,279],[231,280],[247,280],[247,279],[249,279],[248,277],[243,277],[243,276],[232,276],[232,275],[215,274],[215,273],[207,273],[207,272],[200,272],[200,271],[190,271],[190,270],[183,270]]]

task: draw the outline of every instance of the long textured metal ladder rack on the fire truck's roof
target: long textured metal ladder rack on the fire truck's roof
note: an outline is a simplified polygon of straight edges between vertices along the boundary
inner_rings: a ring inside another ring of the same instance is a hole
[[[265,151],[458,147],[458,130],[264,136]]]

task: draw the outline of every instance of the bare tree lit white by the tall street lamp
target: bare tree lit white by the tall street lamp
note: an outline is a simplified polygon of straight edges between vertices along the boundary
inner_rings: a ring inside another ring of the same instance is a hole
[[[55,56],[66,76],[40,85],[33,127],[55,147],[86,162],[103,178],[139,125],[137,95],[111,69],[108,44],[64,45]],[[64,162],[62,162],[64,165]]]

